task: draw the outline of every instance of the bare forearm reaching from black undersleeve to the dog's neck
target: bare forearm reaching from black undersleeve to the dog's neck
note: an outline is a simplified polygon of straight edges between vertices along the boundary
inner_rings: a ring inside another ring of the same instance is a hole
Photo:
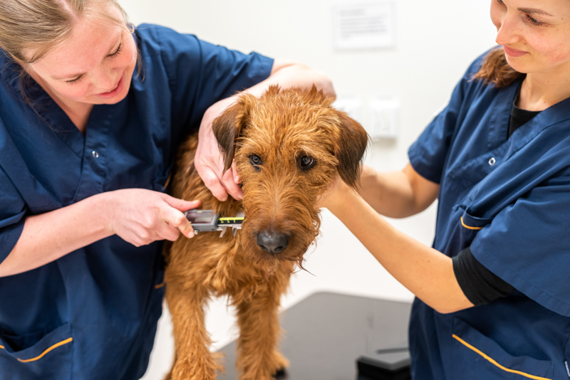
[[[400,283],[438,312],[455,312],[472,303],[463,294],[451,258],[393,228],[370,205],[346,189],[335,214]]]

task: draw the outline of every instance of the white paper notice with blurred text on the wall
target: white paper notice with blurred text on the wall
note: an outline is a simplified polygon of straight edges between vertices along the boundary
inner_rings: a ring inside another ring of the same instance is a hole
[[[337,4],[333,7],[333,45],[337,49],[395,46],[395,0]]]

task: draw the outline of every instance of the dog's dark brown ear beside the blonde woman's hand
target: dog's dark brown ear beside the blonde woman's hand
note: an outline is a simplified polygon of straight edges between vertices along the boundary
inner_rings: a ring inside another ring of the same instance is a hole
[[[212,122],[214,137],[216,137],[219,150],[224,157],[224,171],[232,167],[237,138],[247,123],[253,101],[253,95],[241,95],[237,102],[228,107],[222,115],[219,115]]]

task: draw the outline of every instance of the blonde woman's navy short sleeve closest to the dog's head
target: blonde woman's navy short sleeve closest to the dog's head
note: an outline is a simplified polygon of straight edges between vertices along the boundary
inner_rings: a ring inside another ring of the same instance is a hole
[[[207,108],[269,77],[273,59],[244,54],[155,26],[172,91],[175,124],[196,128]]]

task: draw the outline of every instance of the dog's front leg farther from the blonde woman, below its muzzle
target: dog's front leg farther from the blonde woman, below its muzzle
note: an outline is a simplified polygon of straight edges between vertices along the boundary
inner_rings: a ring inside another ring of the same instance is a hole
[[[289,365],[277,348],[281,335],[278,316],[281,293],[275,294],[271,288],[275,289],[266,286],[252,300],[237,305],[239,380],[269,380]]]

